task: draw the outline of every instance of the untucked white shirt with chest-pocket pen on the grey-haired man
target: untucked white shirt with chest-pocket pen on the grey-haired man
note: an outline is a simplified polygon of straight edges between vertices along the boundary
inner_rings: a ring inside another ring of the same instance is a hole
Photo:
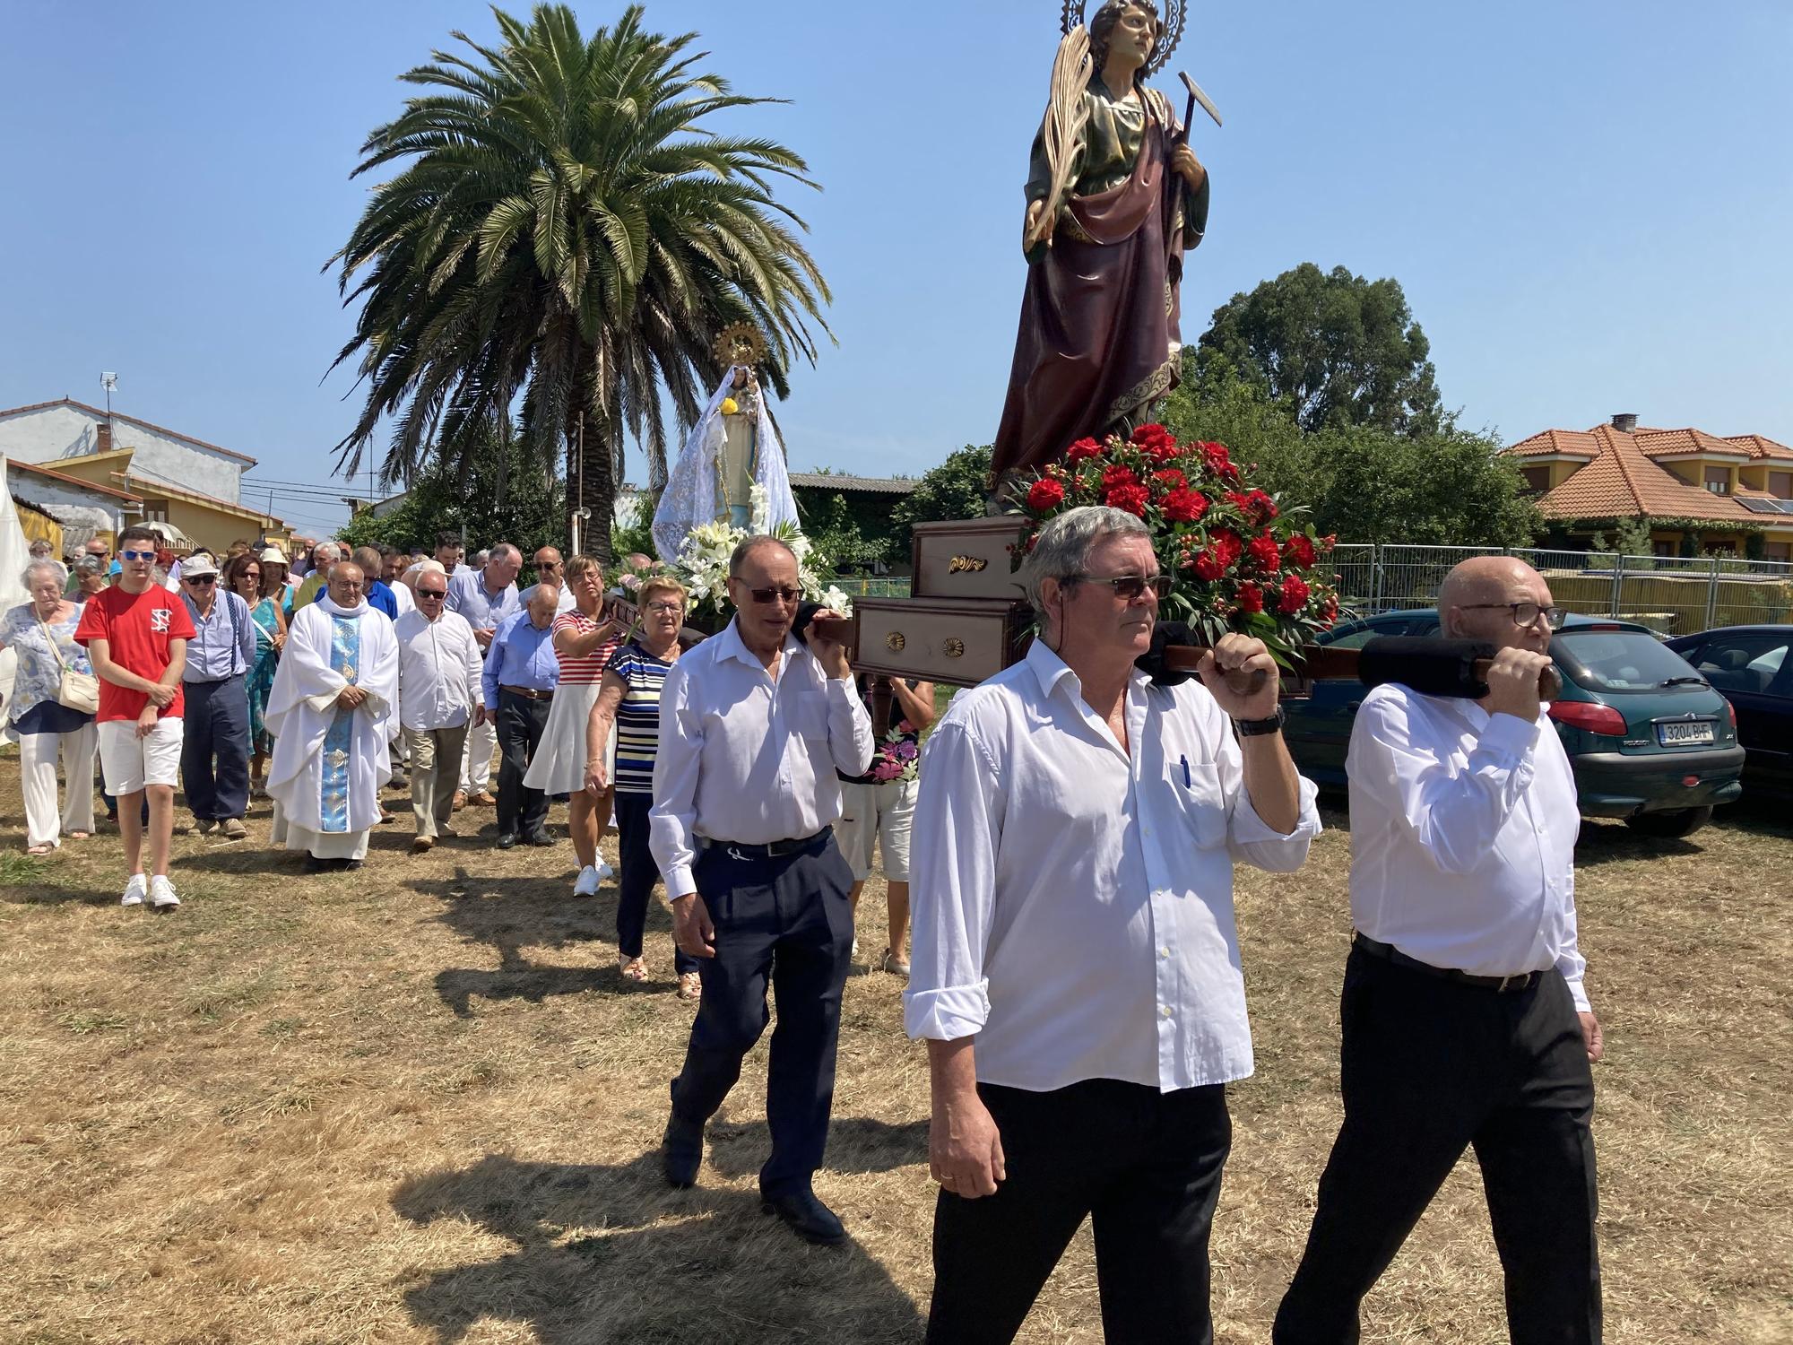
[[[1126,692],[1131,753],[1035,642],[961,692],[922,757],[909,841],[911,1037],[977,1037],[977,1078],[1169,1092],[1252,1072],[1234,861],[1291,872],[1314,785],[1271,830],[1226,714],[1196,681]]]

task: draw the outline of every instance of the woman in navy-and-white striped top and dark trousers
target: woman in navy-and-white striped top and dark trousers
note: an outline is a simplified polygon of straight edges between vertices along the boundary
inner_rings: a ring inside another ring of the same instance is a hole
[[[654,803],[654,755],[660,750],[660,687],[678,658],[678,633],[685,624],[685,588],[676,579],[647,579],[637,601],[642,633],[610,660],[604,685],[592,707],[586,730],[586,789],[615,787],[617,850],[622,877],[617,884],[617,954],[628,981],[645,981],[642,931],[647,925],[647,897],[660,877],[647,848],[647,811]],[[615,766],[606,768],[593,744],[608,742],[615,732]],[[697,999],[697,959],[674,947],[678,997]]]

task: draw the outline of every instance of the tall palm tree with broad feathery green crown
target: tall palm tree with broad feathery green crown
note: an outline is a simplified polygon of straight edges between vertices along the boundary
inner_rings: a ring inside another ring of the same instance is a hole
[[[355,359],[368,386],[337,466],[353,473],[391,416],[385,484],[432,454],[464,472],[515,416],[531,461],[552,473],[583,416],[570,484],[601,520],[586,549],[608,560],[624,434],[658,490],[662,396],[681,427],[697,420],[723,377],[723,326],[760,326],[778,396],[794,357],[814,364],[810,323],[828,332],[828,287],[798,237],[809,226],[773,187],[816,183],[773,140],[705,129],[773,99],[696,72],[697,34],[645,32],[640,5],[590,39],[567,5],[536,5],[527,25],[493,16],[498,47],[454,32],[472,56],[434,52],[405,72],[432,91],[362,145],[355,176],[403,167],[326,264],[341,265],[344,303],[362,299],[335,364]]]

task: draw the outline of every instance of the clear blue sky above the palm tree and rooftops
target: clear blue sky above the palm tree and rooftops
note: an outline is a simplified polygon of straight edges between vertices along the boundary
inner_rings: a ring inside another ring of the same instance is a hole
[[[839,339],[780,407],[794,468],[918,473],[993,436],[1056,11],[647,5],[791,100],[751,126],[825,188],[791,195]],[[321,265],[362,204],[348,174],[398,72],[452,29],[489,39],[489,11],[0,0],[0,405],[102,402],[117,369],[117,409],[258,457],[249,481],[339,484],[351,377],[325,371],[351,319]],[[1189,70],[1226,115],[1196,131],[1214,213],[1185,339],[1298,262],[1347,265],[1400,280],[1447,405],[1508,441],[1615,411],[1793,441],[1789,59],[1788,0],[1198,4],[1158,81]]]

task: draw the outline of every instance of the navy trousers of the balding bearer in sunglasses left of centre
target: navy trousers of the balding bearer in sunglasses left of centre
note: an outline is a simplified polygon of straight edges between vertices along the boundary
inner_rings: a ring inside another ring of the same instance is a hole
[[[841,986],[853,947],[853,872],[832,832],[794,855],[735,854],[710,845],[692,868],[715,925],[715,956],[697,959],[703,1001],[685,1067],[672,1080],[672,1117],[703,1124],[715,1115],[741,1078],[742,1056],[766,1031],[769,979],[778,1001],[766,1069],[773,1153],[760,1169],[760,1191],[793,1194],[809,1189],[828,1144]]]

